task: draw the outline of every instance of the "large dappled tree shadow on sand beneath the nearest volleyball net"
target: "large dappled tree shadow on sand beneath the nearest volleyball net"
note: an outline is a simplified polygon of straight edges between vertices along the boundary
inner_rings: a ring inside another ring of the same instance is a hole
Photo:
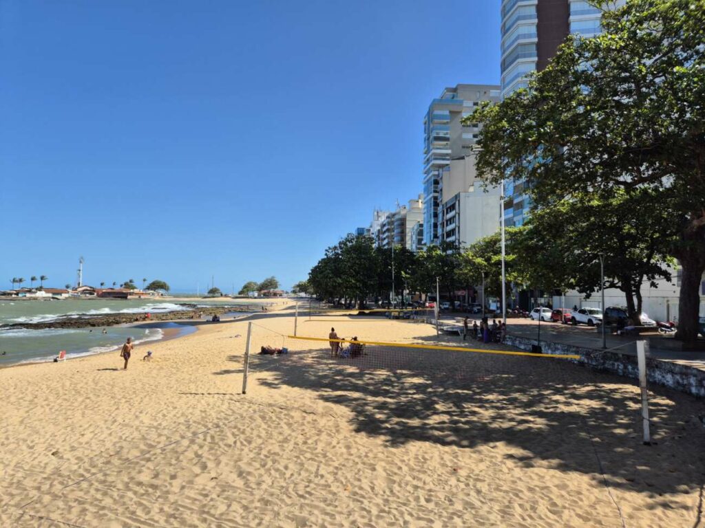
[[[702,401],[654,388],[649,410],[657,444],[644,446],[639,392],[629,379],[560,359],[455,351],[424,351],[424,358],[429,353],[433,367],[379,348],[354,360],[331,359],[320,349],[253,356],[250,368],[268,373],[255,375],[260,386],[306,389],[345,406],[356,432],[391,446],[504,442],[523,451],[508,455],[522,465],[596,479],[603,472],[610,486],[654,496],[654,508],[658,495],[682,492],[682,485],[697,493],[705,480]],[[237,365],[214,374],[242,372]]]

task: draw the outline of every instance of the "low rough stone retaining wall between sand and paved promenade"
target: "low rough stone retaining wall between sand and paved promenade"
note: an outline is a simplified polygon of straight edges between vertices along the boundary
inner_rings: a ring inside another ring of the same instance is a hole
[[[504,342],[525,351],[531,351],[532,345],[538,344],[536,339],[513,335],[507,335]],[[583,348],[551,341],[541,341],[541,348],[547,354],[582,356],[580,360],[570,361],[589,365],[594,370],[612,372],[613,374],[633,379],[639,378],[639,366],[637,365],[636,356],[627,356],[612,351],[602,352],[594,348]],[[650,383],[656,383],[692,396],[705,398],[705,370],[674,363],[673,361],[646,358],[646,376]]]

